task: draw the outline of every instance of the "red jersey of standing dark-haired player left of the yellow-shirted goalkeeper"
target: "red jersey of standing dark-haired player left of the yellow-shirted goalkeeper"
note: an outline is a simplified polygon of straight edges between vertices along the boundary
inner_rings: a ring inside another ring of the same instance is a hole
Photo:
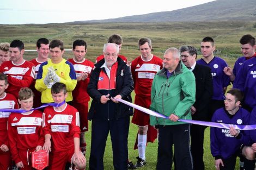
[[[29,87],[32,84],[35,66],[26,60],[20,65],[13,64],[13,61],[5,61],[0,66],[0,73],[8,75],[9,87],[5,91],[18,98],[21,87]]]

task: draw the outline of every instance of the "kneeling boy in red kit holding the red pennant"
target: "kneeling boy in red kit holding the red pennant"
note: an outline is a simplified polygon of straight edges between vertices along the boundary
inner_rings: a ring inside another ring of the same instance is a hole
[[[8,137],[11,157],[17,168],[32,169],[31,152],[39,151],[44,144],[42,112],[32,110],[34,93],[28,87],[19,91],[18,102],[23,113],[12,112],[8,119]]]

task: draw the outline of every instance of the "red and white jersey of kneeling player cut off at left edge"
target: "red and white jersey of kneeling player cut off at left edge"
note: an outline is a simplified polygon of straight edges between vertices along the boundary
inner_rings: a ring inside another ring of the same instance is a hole
[[[3,98],[0,98],[0,109],[19,109],[17,99],[9,94],[5,93]],[[11,112],[0,111],[0,146],[5,144],[9,147],[8,134],[7,134],[7,122]]]

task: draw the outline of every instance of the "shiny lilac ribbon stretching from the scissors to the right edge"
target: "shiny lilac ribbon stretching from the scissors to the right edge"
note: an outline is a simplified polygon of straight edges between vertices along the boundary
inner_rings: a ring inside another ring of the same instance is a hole
[[[156,116],[156,117],[161,117],[161,118],[167,118],[169,119],[168,116],[162,115],[158,112],[155,112],[153,110],[149,110],[146,108],[143,108],[142,106],[127,102],[123,99],[117,99],[114,98],[116,100],[118,100],[121,103],[124,103],[126,105],[131,106],[132,108],[135,108],[137,110],[143,111],[146,114],[152,115],[152,116]],[[225,123],[216,123],[216,122],[204,122],[204,121],[193,121],[193,120],[187,120],[187,119],[179,119],[178,121],[181,122],[186,122],[186,123],[191,123],[191,124],[198,124],[198,125],[205,125],[208,127],[215,127],[215,128],[224,128],[224,129],[229,129],[230,127],[234,127],[235,129],[239,129],[239,130],[254,130],[256,129],[256,124],[252,124],[252,125],[237,125],[237,124],[225,124]]]

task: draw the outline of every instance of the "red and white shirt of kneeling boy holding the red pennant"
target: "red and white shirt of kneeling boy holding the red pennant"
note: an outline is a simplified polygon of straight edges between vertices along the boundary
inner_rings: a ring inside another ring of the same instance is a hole
[[[20,162],[19,150],[43,146],[42,112],[31,111],[29,114],[12,112],[8,119],[8,137],[11,156],[15,163]]]

